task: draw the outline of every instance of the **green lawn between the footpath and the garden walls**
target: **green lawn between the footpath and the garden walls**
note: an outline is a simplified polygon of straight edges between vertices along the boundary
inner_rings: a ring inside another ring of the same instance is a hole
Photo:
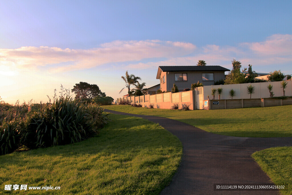
[[[135,108],[123,105],[102,107],[126,113],[171,118],[222,135],[238,137],[292,136],[292,105],[194,111]]]

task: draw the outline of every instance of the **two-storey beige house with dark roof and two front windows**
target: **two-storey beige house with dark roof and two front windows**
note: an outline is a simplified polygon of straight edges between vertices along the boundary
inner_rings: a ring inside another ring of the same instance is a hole
[[[178,90],[183,91],[198,81],[204,85],[213,85],[225,79],[226,71],[230,70],[222,66],[159,66],[156,79],[160,80],[162,91],[171,91],[174,83]]]

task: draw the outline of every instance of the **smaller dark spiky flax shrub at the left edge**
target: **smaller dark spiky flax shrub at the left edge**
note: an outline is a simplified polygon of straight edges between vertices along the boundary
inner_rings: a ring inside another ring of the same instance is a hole
[[[4,118],[0,124],[0,155],[11,153],[20,148],[20,130],[24,128],[23,121],[16,118]]]

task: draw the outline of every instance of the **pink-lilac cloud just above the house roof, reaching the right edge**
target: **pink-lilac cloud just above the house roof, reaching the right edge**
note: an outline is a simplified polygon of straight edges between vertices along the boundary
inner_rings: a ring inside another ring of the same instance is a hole
[[[197,48],[191,56],[169,58],[164,61],[149,63],[131,63],[130,68],[157,68],[159,65],[195,65],[198,60],[205,60],[207,65],[222,65],[232,68],[235,58],[243,66],[281,65],[292,63],[292,35],[274,34],[263,42],[240,43],[237,46],[206,45]],[[271,70],[269,70],[271,71]]]

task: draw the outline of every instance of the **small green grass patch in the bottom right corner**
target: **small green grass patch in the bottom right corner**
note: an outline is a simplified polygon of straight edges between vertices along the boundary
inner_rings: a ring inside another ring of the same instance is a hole
[[[284,185],[287,190],[281,194],[292,194],[292,147],[276,147],[258,151],[252,157],[276,185]],[[288,185],[288,186],[287,186]]]

